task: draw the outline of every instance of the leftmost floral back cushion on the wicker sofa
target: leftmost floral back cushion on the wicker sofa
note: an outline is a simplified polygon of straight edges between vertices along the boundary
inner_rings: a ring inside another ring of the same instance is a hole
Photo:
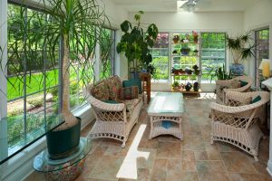
[[[109,100],[110,93],[106,81],[100,81],[98,84],[93,86],[91,90],[92,96],[97,100]]]

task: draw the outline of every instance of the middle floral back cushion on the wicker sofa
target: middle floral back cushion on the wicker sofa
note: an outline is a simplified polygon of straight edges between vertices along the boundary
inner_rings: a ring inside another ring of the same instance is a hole
[[[118,100],[122,87],[120,78],[117,75],[114,75],[107,80],[107,85],[109,89],[110,100]]]

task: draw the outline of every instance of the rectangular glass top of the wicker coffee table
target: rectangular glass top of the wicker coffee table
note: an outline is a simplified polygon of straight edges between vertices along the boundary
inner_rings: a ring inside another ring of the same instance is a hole
[[[183,95],[180,92],[158,92],[151,99],[148,113],[182,113],[183,104]]]

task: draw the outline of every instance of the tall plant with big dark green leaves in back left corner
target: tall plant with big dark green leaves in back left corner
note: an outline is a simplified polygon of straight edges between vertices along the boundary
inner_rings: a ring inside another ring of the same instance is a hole
[[[116,51],[124,53],[127,57],[130,63],[128,72],[130,72],[131,68],[135,69],[137,67],[147,71],[154,70],[154,67],[151,68],[152,56],[150,47],[153,47],[156,42],[158,27],[155,24],[150,24],[144,32],[141,25],[141,14],[143,14],[142,11],[134,15],[135,26],[132,26],[131,22],[127,20],[121,23],[123,35],[120,43],[117,44]],[[140,64],[138,65],[138,63]],[[150,73],[153,72],[151,71]]]

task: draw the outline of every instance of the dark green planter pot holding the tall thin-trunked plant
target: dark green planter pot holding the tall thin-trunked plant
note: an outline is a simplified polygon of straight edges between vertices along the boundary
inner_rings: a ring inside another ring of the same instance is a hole
[[[51,159],[69,157],[77,151],[81,136],[81,119],[73,127],[46,134],[47,149]]]

